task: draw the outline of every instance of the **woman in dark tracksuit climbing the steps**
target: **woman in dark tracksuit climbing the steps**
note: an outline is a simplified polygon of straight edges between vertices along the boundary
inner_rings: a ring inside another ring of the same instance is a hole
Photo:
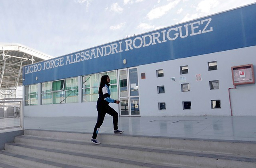
[[[98,142],[96,138],[106,113],[108,113],[110,116],[113,117],[114,133],[115,134],[123,133],[123,131],[118,130],[118,126],[117,126],[118,113],[108,105],[109,103],[119,104],[119,100],[113,100],[110,98],[110,89],[108,88],[110,85],[109,83],[110,83],[109,76],[103,75],[100,80],[99,98],[96,106],[98,111],[98,118],[97,118],[97,123],[94,127],[94,133],[91,139],[91,142],[97,145],[100,144],[100,142]]]

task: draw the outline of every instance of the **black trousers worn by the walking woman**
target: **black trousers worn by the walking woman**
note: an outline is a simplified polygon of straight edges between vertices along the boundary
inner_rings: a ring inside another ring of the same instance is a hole
[[[98,111],[98,118],[97,118],[97,123],[94,127],[94,133],[92,135],[93,139],[97,138],[98,131],[100,129],[100,126],[103,123],[103,120],[104,120],[104,117],[105,117],[106,113],[108,113],[110,116],[113,117],[114,130],[118,129],[118,126],[117,126],[118,113],[113,108],[111,108],[108,105],[106,106],[106,105],[102,105],[102,104],[97,104],[97,111]]]

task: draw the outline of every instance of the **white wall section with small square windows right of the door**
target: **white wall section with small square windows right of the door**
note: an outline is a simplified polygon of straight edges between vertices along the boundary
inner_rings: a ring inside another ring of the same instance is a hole
[[[139,66],[139,77],[146,73],[146,79],[139,78],[141,116],[230,116],[228,90],[234,87],[231,67],[255,65],[255,53],[253,46]],[[217,61],[218,70],[208,71],[208,62],[212,61]],[[185,65],[189,73],[180,75],[180,66]],[[158,69],[164,69],[164,77],[156,77]],[[196,74],[202,75],[202,81],[196,81]],[[179,81],[183,76],[186,82]],[[219,80],[219,89],[210,90],[209,81],[213,80]],[[190,91],[181,92],[181,83],[189,83]],[[161,85],[165,93],[158,94],[157,86]],[[230,93],[234,116],[256,115],[256,84],[237,85]],[[211,109],[210,100],[221,100],[221,109]],[[191,109],[183,110],[183,101],[191,101]],[[165,102],[166,110],[158,110],[158,102]]]

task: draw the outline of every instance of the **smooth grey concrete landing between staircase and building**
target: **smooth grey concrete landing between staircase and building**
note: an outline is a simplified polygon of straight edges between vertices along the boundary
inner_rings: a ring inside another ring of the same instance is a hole
[[[108,115],[108,114],[107,114]],[[100,133],[113,133],[107,116]],[[24,129],[92,133],[97,117],[25,117]],[[126,135],[256,141],[256,116],[119,117]]]

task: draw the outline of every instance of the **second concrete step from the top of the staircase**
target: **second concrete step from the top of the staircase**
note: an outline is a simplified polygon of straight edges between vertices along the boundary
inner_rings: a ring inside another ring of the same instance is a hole
[[[98,154],[100,151],[101,154],[111,157],[122,156],[122,158],[130,160],[144,160],[146,162],[159,162],[164,164],[189,165],[196,167],[204,167],[208,166],[208,164],[219,164],[221,166],[223,164],[221,164],[221,162],[225,162],[225,164],[229,165],[244,165],[243,162],[245,160],[252,162],[255,161],[255,158],[251,156],[238,156],[209,152],[206,153],[202,151],[170,150],[156,147],[139,147],[134,145],[112,145],[106,143],[102,143],[101,145],[94,145],[88,141],[72,141],[26,135],[16,137],[15,143],[65,149],[70,151],[86,151],[87,153],[91,154]],[[193,164],[194,159],[197,160],[196,164]],[[236,160],[238,163],[234,162],[234,160]]]

